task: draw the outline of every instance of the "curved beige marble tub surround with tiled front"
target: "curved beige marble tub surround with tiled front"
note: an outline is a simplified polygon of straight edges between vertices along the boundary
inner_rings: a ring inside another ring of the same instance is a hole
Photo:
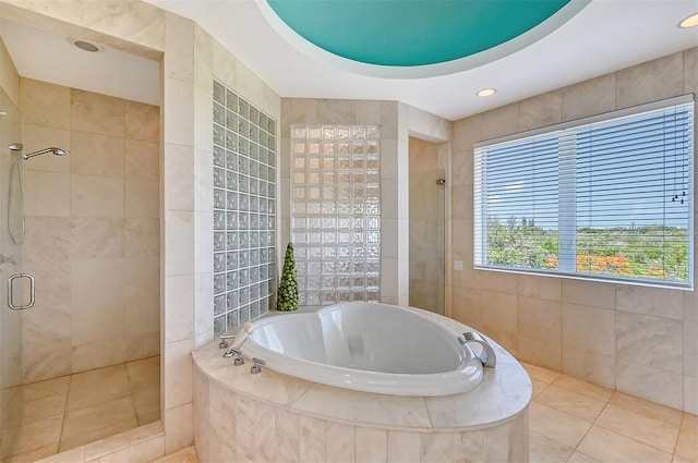
[[[292,314],[288,315],[292,316]],[[434,316],[436,317],[436,316]],[[460,331],[469,328],[440,319]],[[214,341],[193,352],[195,443],[215,461],[528,461],[531,382],[493,343],[497,367],[442,398],[358,392],[236,367]]]

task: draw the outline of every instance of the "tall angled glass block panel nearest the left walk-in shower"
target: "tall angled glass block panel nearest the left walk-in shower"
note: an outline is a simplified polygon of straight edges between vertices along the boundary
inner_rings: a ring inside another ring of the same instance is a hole
[[[276,291],[276,122],[214,81],[214,332]]]

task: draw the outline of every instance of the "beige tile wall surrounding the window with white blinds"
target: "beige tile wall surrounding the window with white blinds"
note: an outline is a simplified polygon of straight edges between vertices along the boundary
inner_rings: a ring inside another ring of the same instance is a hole
[[[472,145],[488,138],[698,93],[698,48],[454,122],[454,203],[472,191]],[[698,413],[693,291],[472,269],[472,202],[452,208],[453,316],[522,361]]]

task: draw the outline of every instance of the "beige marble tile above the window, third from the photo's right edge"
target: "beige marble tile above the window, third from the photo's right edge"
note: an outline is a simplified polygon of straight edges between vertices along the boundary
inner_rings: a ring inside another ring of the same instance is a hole
[[[606,74],[563,88],[563,121],[615,109],[615,74]]]

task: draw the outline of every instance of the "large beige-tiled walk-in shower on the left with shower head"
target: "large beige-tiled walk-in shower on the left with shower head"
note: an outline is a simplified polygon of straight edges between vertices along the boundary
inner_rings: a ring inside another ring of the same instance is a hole
[[[22,76],[9,24],[0,461],[36,461],[160,419],[160,115]]]

